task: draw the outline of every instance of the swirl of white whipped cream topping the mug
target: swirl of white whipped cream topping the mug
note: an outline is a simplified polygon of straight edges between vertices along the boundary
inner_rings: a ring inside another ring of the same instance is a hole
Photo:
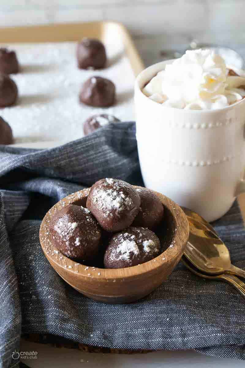
[[[191,50],[158,72],[143,93],[178,109],[222,109],[245,97],[245,78],[228,75],[224,59],[215,52]]]

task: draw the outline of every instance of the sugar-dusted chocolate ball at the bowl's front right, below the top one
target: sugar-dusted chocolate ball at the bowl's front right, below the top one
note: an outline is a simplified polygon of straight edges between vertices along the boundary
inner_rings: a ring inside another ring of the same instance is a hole
[[[114,234],[104,255],[105,268],[137,266],[159,255],[158,237],[144,227],[129,227]]]

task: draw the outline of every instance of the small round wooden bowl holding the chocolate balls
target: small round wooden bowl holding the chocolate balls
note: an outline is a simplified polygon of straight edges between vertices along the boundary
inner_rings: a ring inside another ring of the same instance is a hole
[[[68,195],[45,215],[40,227],[40,243],[48,262],[74,289],[89,298],[110,304],[133,302],[151,293],[167,279],[184,253],[189,236],[189,224],[181,208],[171,199],[155,192],[164,210],[164,220],[156,231],[163,252],[138,266],[104,269],[87,267],[67,258],[53,247],[49,232],[51,216],[69,203],[86,205],[88,189]]]

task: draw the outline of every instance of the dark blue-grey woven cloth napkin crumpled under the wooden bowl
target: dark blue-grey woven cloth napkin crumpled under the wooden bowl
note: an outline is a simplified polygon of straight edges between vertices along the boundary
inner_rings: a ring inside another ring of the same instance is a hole
[[[48,150],[0,146],[0,366],[18,366],[12,353],[21,333],[109,348],[192,348],[245,360],[245,300],[226,283],[200,279],[179,263],[144,299],[107,305],[84,297],[51,268],[39,243],[43,216],[103,177],[143,185],[134,123],[112,124]],[[214,226],[233,263],[244,268],[237,202]]]

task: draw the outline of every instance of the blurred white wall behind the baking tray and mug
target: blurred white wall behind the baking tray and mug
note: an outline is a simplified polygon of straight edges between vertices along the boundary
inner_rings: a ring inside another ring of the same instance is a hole
[[[206,33],[245,37],[244,0],[0,0],[0,25],[123,22],[135,36]]]

